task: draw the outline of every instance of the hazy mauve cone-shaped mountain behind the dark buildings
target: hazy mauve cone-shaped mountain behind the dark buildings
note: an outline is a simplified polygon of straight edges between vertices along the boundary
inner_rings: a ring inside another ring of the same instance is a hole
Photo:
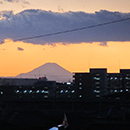
[[[46,63],[28,73],[21,73],[17,75],[16,78],[39,78],[44,76],[51,81],[72,81],[72,73],[56,63]]]

